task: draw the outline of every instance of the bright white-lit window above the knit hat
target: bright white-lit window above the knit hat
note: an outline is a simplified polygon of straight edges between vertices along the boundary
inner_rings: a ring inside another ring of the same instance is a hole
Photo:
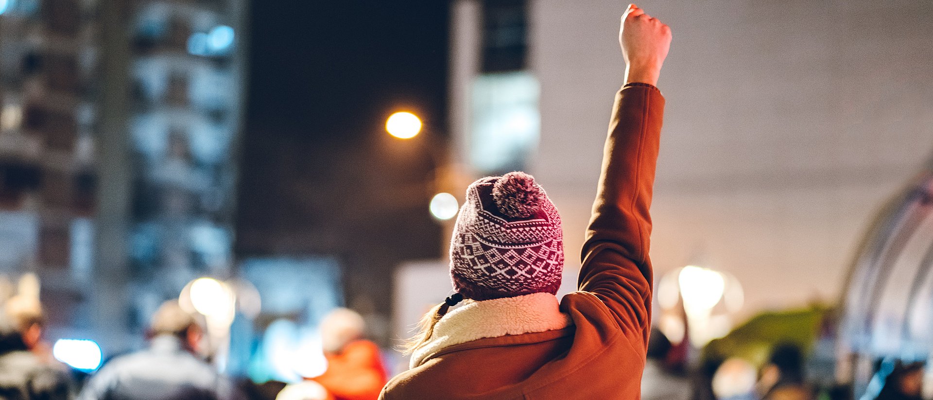
[[[478,76],[472,95],[470,164],[481,174],[524,170],[541,130],[535,76],[524,71]]]

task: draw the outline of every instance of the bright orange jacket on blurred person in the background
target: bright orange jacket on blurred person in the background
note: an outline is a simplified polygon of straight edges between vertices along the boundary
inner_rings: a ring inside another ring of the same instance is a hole
[[[327,371],[312,380],[320,383],[335,400],[376,400],[385,384],[385,368],[379,346],[356,340],[342,352],[325,354]]]

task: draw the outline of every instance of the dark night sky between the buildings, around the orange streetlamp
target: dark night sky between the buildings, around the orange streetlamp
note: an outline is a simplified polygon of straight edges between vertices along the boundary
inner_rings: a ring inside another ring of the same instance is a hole
[[[430,152],[389,138],[384,120],[414,111],[423,136],[444,136],[449,5],[252,7],[235,252],[335,258],[348,305],[388,313],[393,269],[439,257],[441,236]]]

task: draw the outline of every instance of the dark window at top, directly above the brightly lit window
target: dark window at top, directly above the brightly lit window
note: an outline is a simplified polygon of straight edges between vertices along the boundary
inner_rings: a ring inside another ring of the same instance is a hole
[[[482,71],[521,70],[528,49],[525,0],[482,3]]]

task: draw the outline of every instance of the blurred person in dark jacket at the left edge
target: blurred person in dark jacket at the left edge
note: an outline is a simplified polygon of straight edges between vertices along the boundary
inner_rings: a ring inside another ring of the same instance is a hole
[[[70,399],[67,372],[35,352],[42,338],[41,306],[10,300],[0,312],[0,399]]]

